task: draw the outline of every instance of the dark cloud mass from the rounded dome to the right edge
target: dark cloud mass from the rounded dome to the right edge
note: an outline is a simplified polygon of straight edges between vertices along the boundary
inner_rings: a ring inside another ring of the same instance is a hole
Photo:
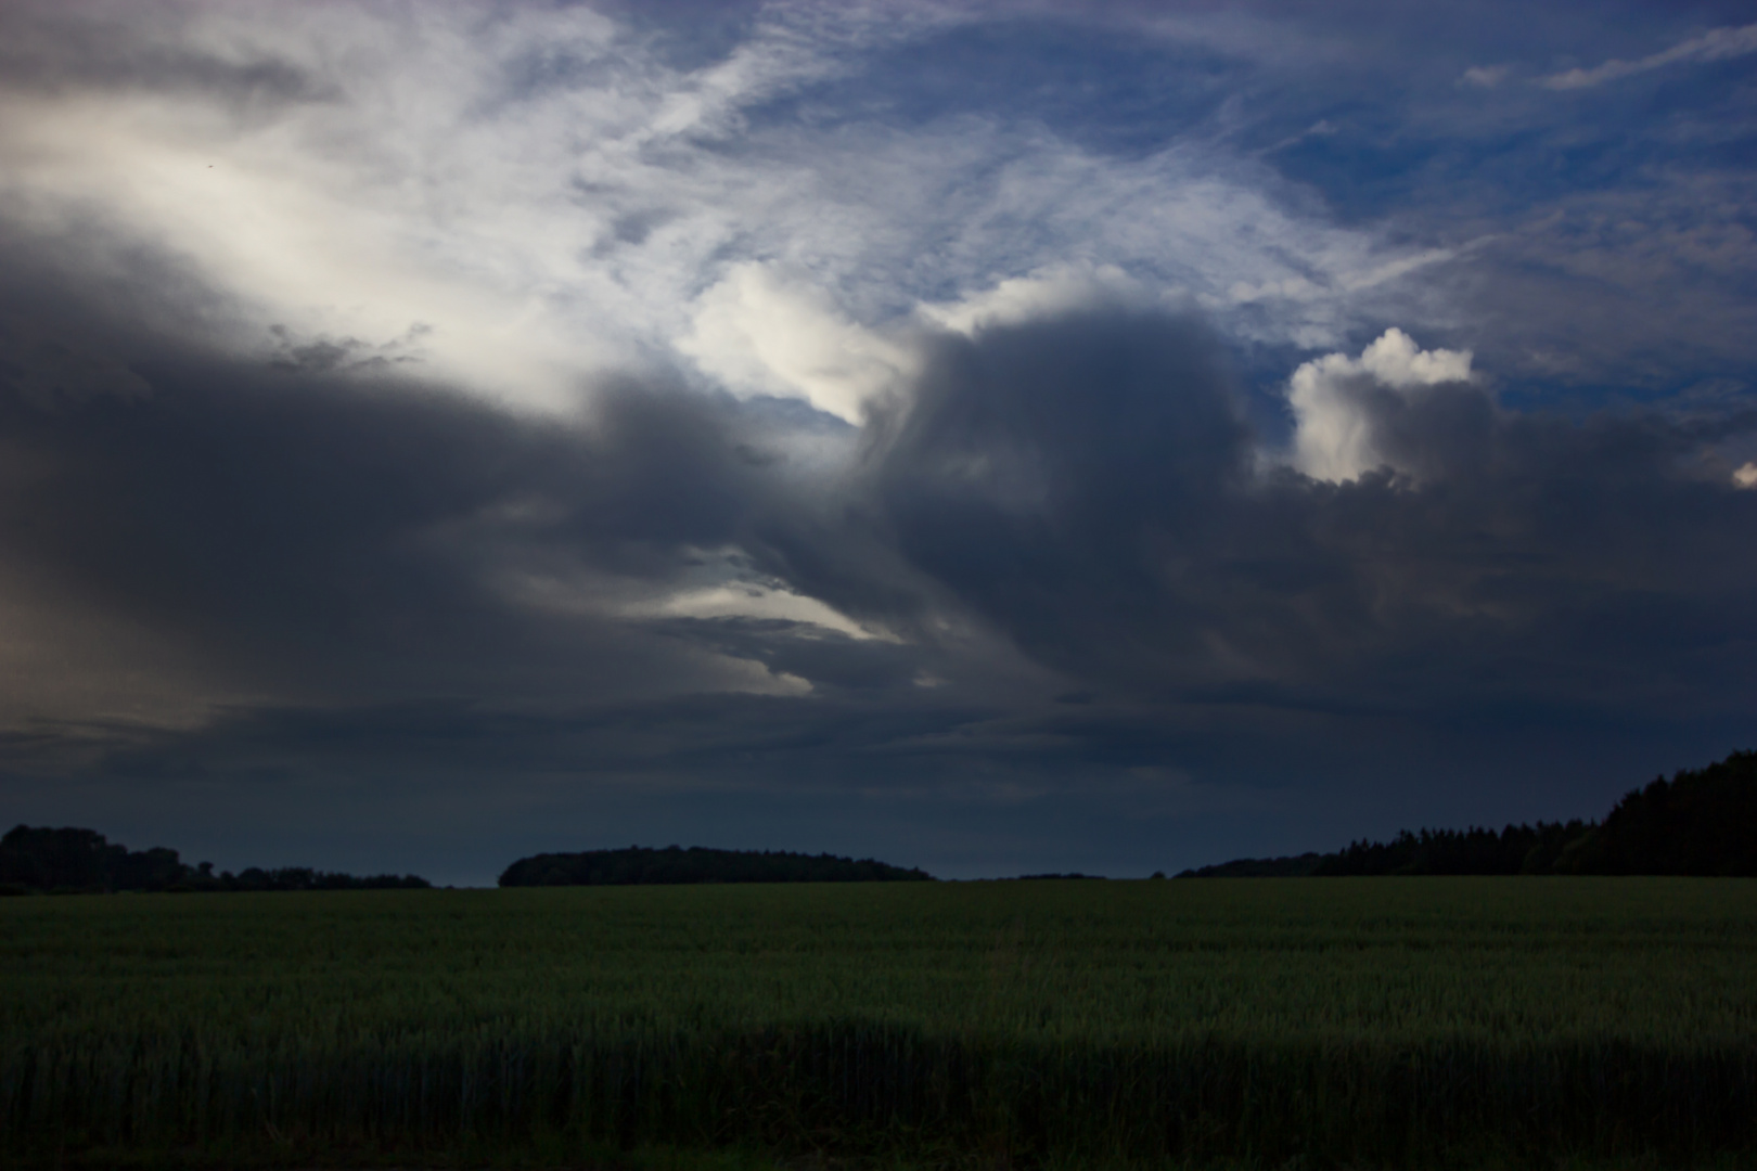
[[[938,344],[873,497],[917,569],[1100,690],[1750,702],[1757,493],[1711,451],[1750,414],[1571,423],[1370,379],[1353,399],[1404,471],[1318,483],[1258,471],[1188,321],[993,330]]]

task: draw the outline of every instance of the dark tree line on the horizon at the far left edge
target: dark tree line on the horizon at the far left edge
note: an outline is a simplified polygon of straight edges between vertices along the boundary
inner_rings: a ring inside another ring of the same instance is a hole
[[[415,874],[357,878],[302,866],[214,874],[213,862],[184,866],[176,850],[128,850],[90,829],[18,825],[0,837],[0,892],[100,894],[118,890],[418,890]]]

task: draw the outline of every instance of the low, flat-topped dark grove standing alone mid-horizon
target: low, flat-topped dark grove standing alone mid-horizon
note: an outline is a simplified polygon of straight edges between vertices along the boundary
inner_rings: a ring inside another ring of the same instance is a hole
[[[886,866],[873,858],[838,858],[829,853],[780,850],[708,850],[668,846],[652,850],[587,850],[538,853],[518,858],[501,874],[503,887],[641,887],[678,883],[887,883],[931,881],[919,869]]]

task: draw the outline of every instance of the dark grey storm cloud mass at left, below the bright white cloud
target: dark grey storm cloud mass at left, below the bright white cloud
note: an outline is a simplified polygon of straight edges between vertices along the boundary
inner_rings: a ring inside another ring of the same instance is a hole
[[[664,581],[685,546],[734,537],[754,495],[727,402],[676,388],[610,386],[592,427],[534,423],[177,349],[91,309],[46,328],[132,383],[72,395],[19,365],[35,351],[4,372],[7,565],[193,648],[244,692],[601,686],[576,660],[627,636],[513,606],[495,574]]]

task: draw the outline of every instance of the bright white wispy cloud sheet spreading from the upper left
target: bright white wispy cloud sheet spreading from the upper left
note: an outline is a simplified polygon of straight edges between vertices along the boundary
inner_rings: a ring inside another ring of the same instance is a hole
[[[5,19],[11,230],[93,274],[177,267],[207,311],[162,328],[193,344],[422,328],[402,356],[513,409],[566,414],[597,374],[683,353],[852,420],[896,360],[889,325],[1068,265],[1218,314],[1239,283],[1302,283],[1323,295],[1258,298],[1237,327],[1335,344],[1383,295],[1362,276],[1421,251],[1195,140],[1110,154],[958,111],[901,132],[861,61],[972,19],[933,7],[775,5],[682,61],[585,7]]]

